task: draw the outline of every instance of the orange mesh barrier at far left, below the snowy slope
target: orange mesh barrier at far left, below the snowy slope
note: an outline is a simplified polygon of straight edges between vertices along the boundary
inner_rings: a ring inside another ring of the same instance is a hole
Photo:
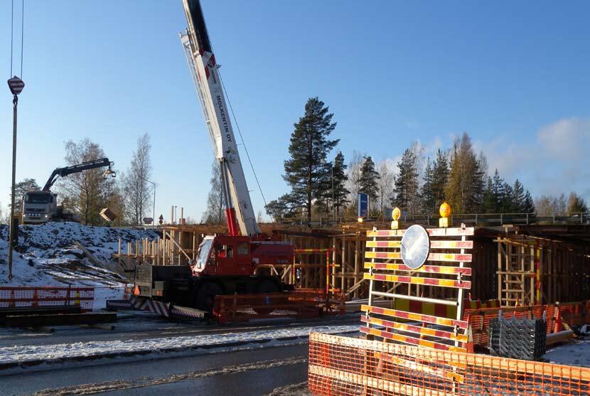
[[[92,311],[94,287],[0,287],[0,308],[15,306],[80,306]]]

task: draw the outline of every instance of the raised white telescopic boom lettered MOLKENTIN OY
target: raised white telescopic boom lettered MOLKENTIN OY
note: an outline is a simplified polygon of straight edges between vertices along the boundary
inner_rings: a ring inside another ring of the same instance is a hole
[[[183,0],[188,29],[181,33],[195,90],[203,117],[213,143],[215,158],[220,164],[223,193],[230,235],[259,235],[250,192],[237,151],[235,135],[227,112],[225,95],[215,61],[205,18],[198,0]],[[237,224],[236,224],[237,223]]]

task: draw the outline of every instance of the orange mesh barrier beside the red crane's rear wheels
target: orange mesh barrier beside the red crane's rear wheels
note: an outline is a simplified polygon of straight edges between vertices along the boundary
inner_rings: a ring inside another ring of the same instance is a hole
[[[215,296],[213,316],[218,323],[252,319],[317,318],[345,312],[343,294],[326,294],[322,289],[267,294]]]

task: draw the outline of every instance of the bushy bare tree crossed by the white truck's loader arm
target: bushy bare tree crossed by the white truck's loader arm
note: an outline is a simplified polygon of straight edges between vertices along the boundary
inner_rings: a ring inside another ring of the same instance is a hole
[[[71,140],[65,143],[65,161],[68,166],[102,157],[104,157],[102,148],[88,138],[77,143]],[[58,181],[62,204],[65,208],[78,213],[82,223],[102,223],[99,215],[105,186],[102,173],[101,169],[88,169]]]

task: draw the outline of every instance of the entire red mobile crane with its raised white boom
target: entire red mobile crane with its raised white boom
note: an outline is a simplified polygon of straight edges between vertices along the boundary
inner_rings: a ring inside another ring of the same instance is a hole
[[[134,294],[210,311],[218,294],[292,290],[264,267],[289,264],[294,252],[289,242],[264,235],[256,223],[200,2],[183,0],[183,6],[188,28],[181,43],[221,169],[228,232],[204,237],[188,266],[137,265]]]

